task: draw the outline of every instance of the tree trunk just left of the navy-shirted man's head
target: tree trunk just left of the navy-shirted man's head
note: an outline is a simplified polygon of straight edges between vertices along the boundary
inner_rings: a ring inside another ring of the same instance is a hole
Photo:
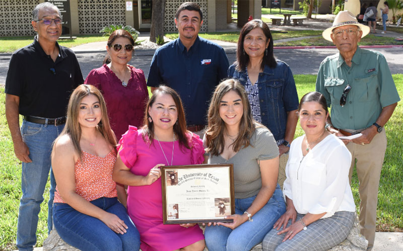
[[[164,14],[166,0],[154,0],[151,14],[150,41],[156,42],[156,38],[164,36]]]

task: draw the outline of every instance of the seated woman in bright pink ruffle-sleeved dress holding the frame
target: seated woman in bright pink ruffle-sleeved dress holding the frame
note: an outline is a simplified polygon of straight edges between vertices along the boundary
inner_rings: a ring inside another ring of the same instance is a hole
[[[112,177],[128,185],[127,211],[139,229],[143,251],[201,251],[205,241],[198,225],[163,224],[159,168],[203,163],[203,142],[186,131],[182,102],[173,89],[158,87],[146,113],[145,126],[129,126],[119,141]]]

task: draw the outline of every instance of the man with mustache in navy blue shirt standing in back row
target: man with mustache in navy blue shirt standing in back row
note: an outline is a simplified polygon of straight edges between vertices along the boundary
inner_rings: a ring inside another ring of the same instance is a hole
[[[147,85],[175,89],[185,108],[188,130],[200,135],[212,93],[227,77],[228,58],[221,46],[198,37],[203,13],[197,4],[183,3],[175,17],[179,38],[157,49]]]

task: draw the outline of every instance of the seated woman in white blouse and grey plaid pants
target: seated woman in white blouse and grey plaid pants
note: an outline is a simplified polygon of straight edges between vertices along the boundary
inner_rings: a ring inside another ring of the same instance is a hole
[[[354,224],[351,154],[325,130],[325,98],[305,94],[298,112],[305,135],[291,144],[283,189],[287,210],[264,237],[265,251],[328,250],[346,239]]]

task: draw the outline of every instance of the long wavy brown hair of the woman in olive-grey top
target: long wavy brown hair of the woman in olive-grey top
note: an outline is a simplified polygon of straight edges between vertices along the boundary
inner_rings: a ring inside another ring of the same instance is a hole
[[[210,102],[208,113],[209,128],[206,132],[206,152],[216,156],[222,154],[224,151],[225,122],[220,117],[219,109],[221,99],[229,91],[235,91],[241,97],[243,105],[243,114],[239,123],[238,137],[232,144],[234,152],[238,152],[241,148],[248,147],[250,145],[250,137],[252,137],[255,128],[260,127],[257,122],[253,120],[248,95],[243,85],[236,79],[222,81],[216,87]]]

